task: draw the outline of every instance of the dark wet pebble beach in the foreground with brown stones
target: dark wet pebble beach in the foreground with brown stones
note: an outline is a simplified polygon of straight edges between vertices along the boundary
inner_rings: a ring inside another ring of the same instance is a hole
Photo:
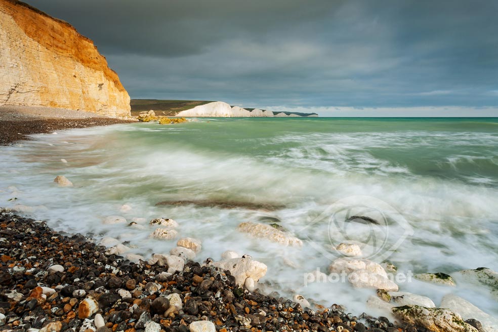
[[[229,271],[212,265],[188,261],[183,271],[170,274],[164,263],[104,255],[106,247],[83,235],[58,233],[45,222],[2,210],[3,330],[187,332],[190,323],[207,320],[220,332],[417,331],[385,317],[346,314],[340,305],[315,311],[273,294],[251,293],[236,286]]]

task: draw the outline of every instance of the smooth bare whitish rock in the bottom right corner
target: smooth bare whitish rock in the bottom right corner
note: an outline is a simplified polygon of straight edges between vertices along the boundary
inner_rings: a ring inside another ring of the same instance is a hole
[[[498,331],[498,319],[488,315],[461,297],[453,294],[447,294],[443,297],[440,307],[448,308],[449,310],[458,313],[465,320],[470,318],[477,319],[481,322],[483,332]]]

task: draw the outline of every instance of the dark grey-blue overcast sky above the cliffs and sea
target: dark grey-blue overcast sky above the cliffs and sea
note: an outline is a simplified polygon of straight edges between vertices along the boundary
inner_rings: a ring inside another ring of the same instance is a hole
[[[320,115],[498,116],[495,0],[27,0],[131,98]]]

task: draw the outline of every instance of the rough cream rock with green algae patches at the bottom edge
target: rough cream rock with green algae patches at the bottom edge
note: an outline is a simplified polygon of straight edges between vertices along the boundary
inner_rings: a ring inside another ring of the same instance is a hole
[[[402,306],[394,307],[392,312],[407,323],[421,325],[434,332],[477,332],[475,327],[449,309]]]

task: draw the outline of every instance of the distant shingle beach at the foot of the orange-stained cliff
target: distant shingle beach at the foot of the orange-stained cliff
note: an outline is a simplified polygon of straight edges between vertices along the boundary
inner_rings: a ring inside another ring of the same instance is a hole
[[[135,123],[100,116],[95,113],[51,107],[0,106],[0,145],[28,140],[27,135],[47,134],[57,130]]]

